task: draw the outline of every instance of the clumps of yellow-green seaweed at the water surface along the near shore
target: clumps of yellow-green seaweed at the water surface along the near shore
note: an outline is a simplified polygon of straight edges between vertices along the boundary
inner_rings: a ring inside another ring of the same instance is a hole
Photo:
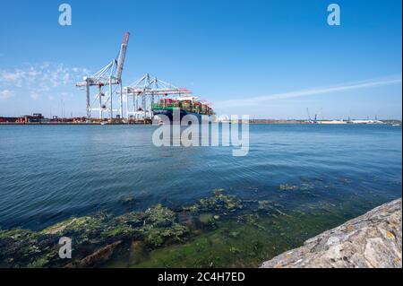
[[[219,211],[210,216],[212,221],[217,221],[219,214],[238,207],[242,207],[239,200],[216,190],[213,197],[201,199],[189,209],[192,213]],[[41,231],[0,230],[0,265],[89,267],[97,265],[96,260],[107,260],[119,247],[130,245],[133,240],[143,241],[150,249],[161,247],[167,242],[184,242],[186,236],[192,235],[192,231],[188,223],[181,223],[178,217],[178,213],[157,204],[145,212],[127,212],[117,217],[105,212],[72,217]],[[197,234],[198,231],[193,233]],[[61,237],[73,239],[74,257],[73,262],[68,264],[58,257],[58,239]]]

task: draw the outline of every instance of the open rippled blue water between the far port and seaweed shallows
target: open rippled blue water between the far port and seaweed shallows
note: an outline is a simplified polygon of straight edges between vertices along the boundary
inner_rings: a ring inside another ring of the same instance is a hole
[[[232,147],[158,148],[155,128],[0,126],[0,227],[193,204],[215,188],[290,209],[352,200],[370,209],[401,196],[400,127],[253,125],[246,157]]]

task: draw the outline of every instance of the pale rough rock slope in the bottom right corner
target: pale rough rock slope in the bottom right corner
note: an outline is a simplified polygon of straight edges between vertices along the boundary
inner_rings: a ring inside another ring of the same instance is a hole
[[[401,268],[401,216],[400,198],[306,240],[262,268]]]

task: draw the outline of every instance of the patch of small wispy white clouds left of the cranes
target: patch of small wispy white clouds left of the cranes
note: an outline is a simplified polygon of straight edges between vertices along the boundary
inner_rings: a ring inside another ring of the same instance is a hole
[[[41,63],[13,69],[0,69],[0,88],[16,93],[27,93],[32,100],[55,93],[55,89],[81,80],[89,71],[81,67],[63,64]]]

